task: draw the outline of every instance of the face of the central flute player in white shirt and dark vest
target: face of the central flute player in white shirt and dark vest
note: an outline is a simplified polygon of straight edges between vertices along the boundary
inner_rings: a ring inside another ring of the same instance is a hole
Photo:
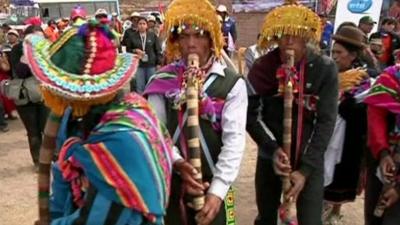
[[[178,44],[179,50],[184,60],[188,58],[190,54],[197,54],[200,60],[200,66],[204,65],[209,57],[211,56],[211,39],[206,34],[201,34],[191,26],[185,29],[179,34]]]

